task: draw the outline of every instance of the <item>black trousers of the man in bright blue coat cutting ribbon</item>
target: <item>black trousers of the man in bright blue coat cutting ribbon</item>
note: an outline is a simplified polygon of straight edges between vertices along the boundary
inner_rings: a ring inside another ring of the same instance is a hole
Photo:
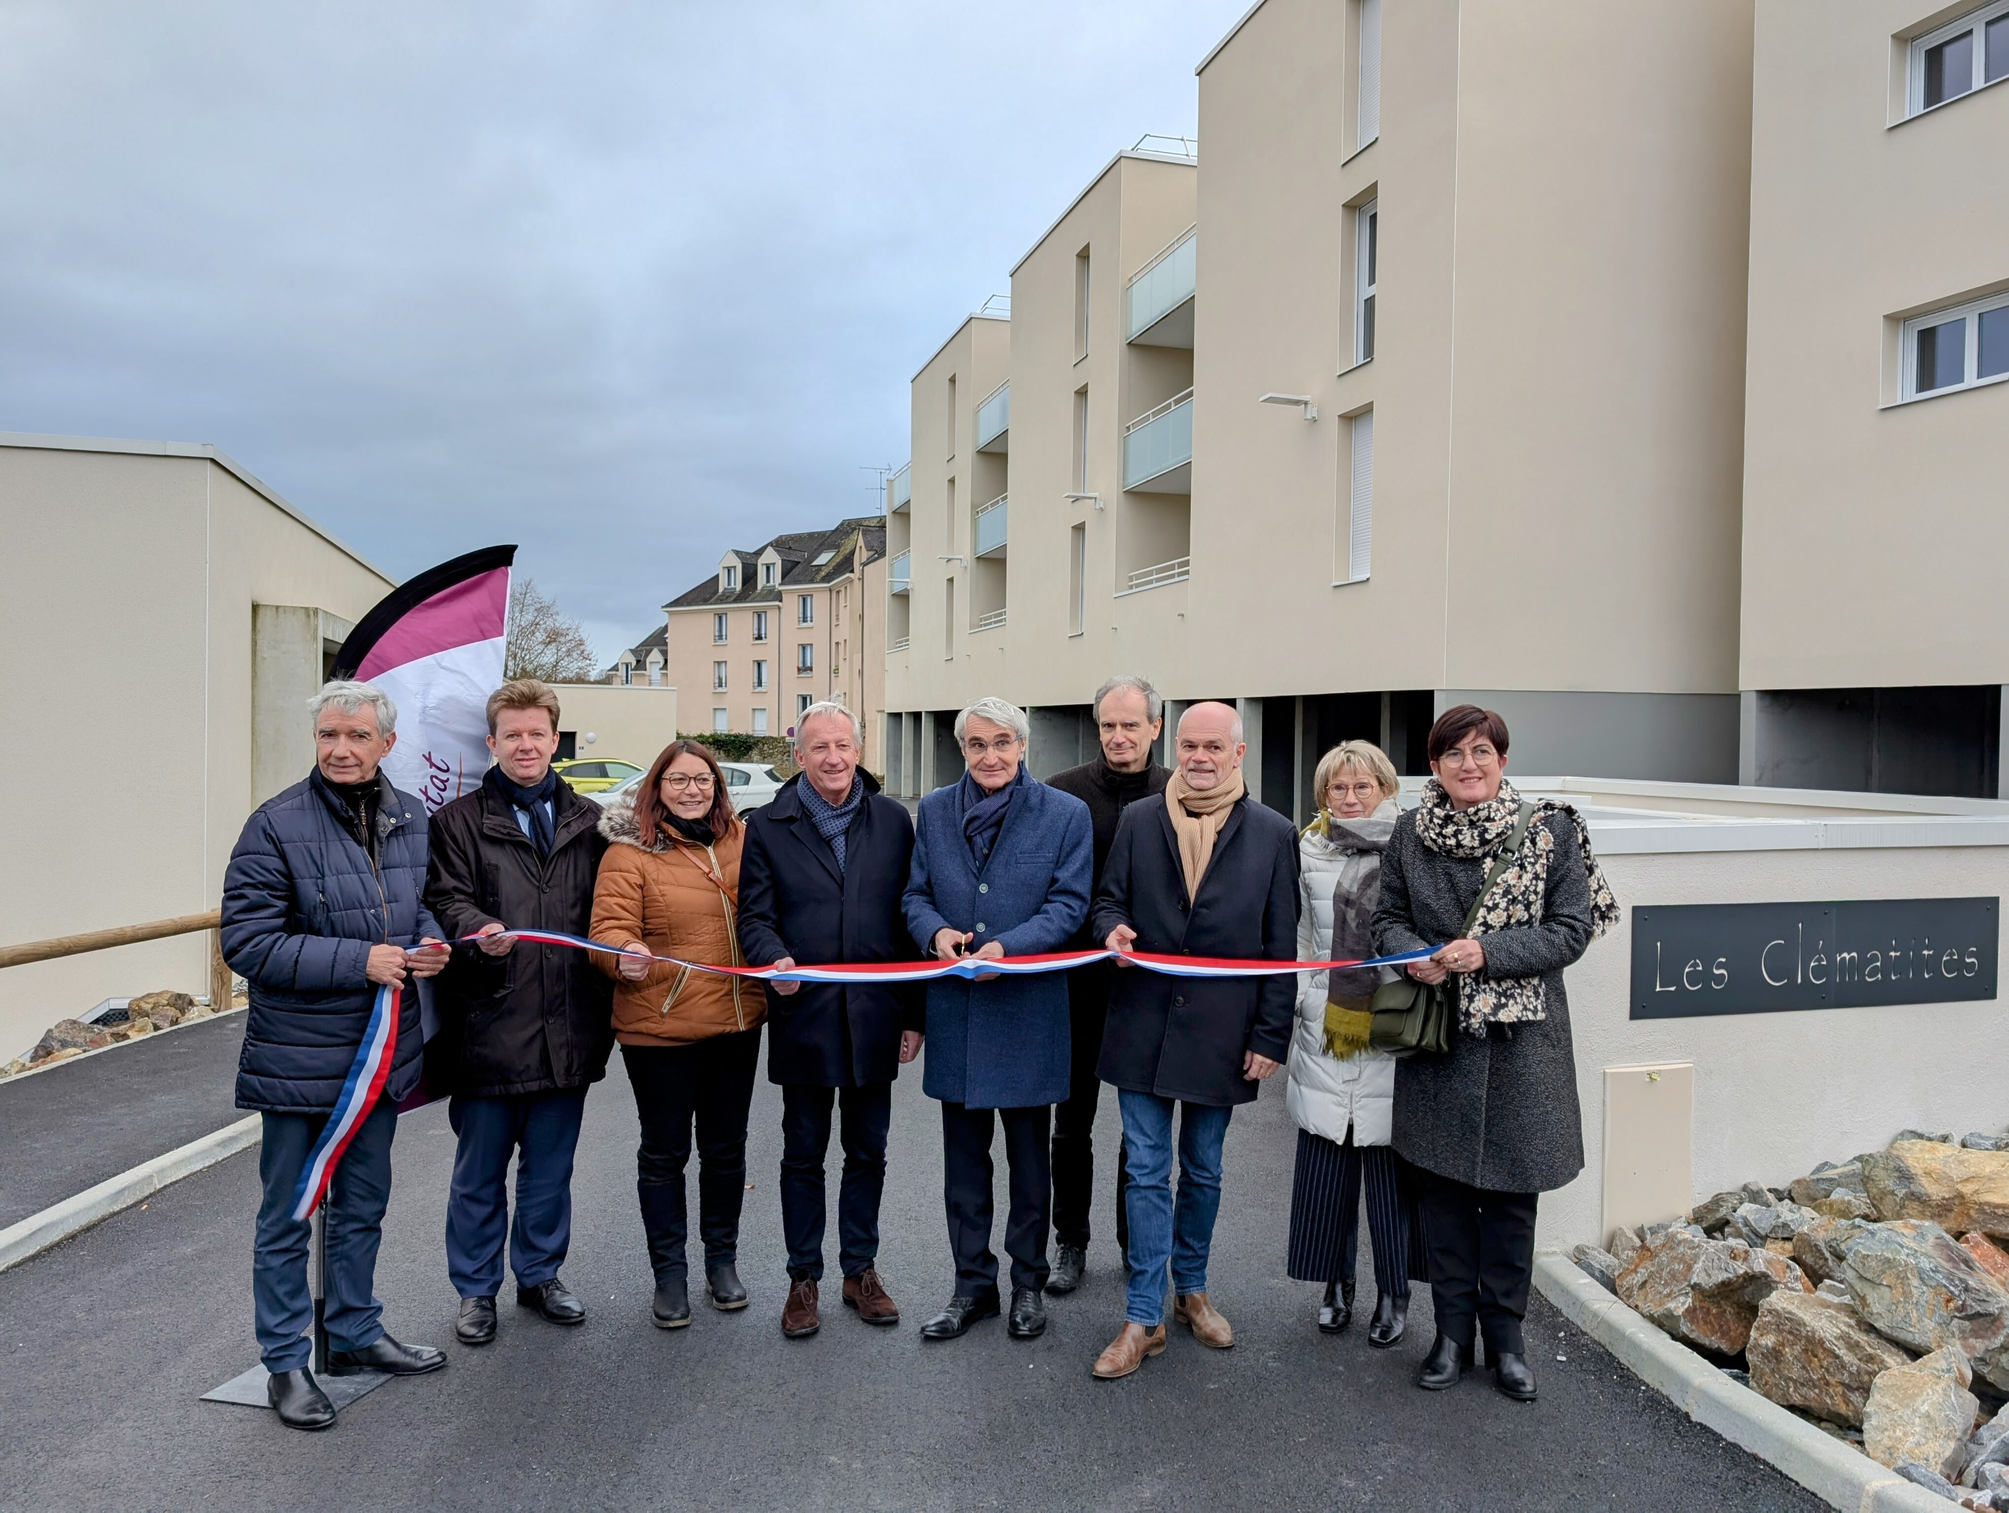
[[[948,1248],[956,1254],[956,1296],[986,1298],[998,1290],[998,1258],[990,1252],[990,1139],[1004,1125],[1011,1167],[1011,1212],[1004,1250],[1013,1288],[1047,1286],[1047,1220],[1053,1208],[1053,1165],[1047,1129],[1053,1109],[968,1109],[942,1103],[942,1202]]]

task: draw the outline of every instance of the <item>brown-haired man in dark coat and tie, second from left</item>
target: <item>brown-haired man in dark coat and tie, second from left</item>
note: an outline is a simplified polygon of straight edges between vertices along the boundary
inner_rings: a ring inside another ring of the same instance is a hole
[[[573,1151],[587,1089],[613,1051],[613,983],[591,956],[516,940],[508,930],[587,934],[607,840],[601,806],[550,760],[559,695],[534,677],[488,695],[496,766],[480,788],[432,816],[426,904],[454,938],[440,981],[440,1035],[426,1065],[452,1093],[460,1145],[446,1198],[446,1274],[460,1294],[462,1344],[496,1336],[502,1242],[516,1304],[552,1324],[583,1324],[585,1304],[559,1280],[573,1240]],[[516,1157],[516,1224],[508,1163]]]

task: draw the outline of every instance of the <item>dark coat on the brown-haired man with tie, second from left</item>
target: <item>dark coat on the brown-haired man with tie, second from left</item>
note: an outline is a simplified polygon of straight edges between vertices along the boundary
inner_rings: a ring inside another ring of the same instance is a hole
[[[607,850],[601,806],[559,784],[550,810],[548,856],[538,856],[514,808],[486,784],[432,816],[426,906],[450,938],[488,924],[591,934],[593,884]],[[428,1085],[504,1097],[597,1083],[615,1045],[613,997],[585,950],[518,940],[490,956],[454,946],[438,983]]]

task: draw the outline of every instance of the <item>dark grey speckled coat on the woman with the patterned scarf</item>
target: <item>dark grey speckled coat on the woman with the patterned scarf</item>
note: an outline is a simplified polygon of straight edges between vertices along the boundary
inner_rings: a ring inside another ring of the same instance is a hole
[[[1551,814],[1545,824],[1555,852],[1541,918],[1479,936],[1487,977],[1541,979],[1545,1017],[1489,1025],[1485,1035],[1453,1025],[1448,1055],[1414,1055],[1394,1073],[1396,1153],[1491,1192],[1551,1192],[1583,1169],[1563,968],[1591,944],[1591,888],[1575,822]],[[1394,954],[1459,938],[1489,862],[1428,850],[1416,834],[1414,810],[1404,814],[1382,856],[1378,950]]]

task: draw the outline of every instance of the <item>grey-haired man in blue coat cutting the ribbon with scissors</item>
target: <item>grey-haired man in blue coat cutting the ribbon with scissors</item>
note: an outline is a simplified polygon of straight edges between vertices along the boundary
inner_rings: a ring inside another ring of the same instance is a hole
[[[920,800],[906,928],[942,960],[1061,950],[1087,920],[1095,870],[1089,806],[1027,774],[1027,735],[1023,709],[978,699],[956,715],[968,766],[962,782]],[[1053,972],[932,981],[926,1031],[922,1089],[942,1103],[942,1196],[956,1290],[922,1324],[922,1338],[954,1340],[1000,1312],[990,1141],[1002,1123],[1009,1330],[1031,1340],[1047,1328],[1047,1131],[1069,1085],[1067,981]]]

